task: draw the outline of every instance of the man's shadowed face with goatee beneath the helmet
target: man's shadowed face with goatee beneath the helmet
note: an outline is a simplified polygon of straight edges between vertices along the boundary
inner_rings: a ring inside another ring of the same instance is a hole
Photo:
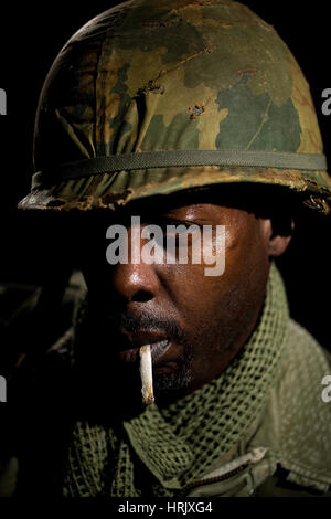
[[[206,276],[203,262],[190,261],[190,246],[188,264],[132,263],[129,219],[128,263],[109,265],[105,236],[114,222],[105,219],[90,233],[83,268],[96,337],[90,354],[108,362],[109,377],[127,386],[139,375],[139,347],[149,343],[156,395],[185,394],[218,375],[252,333],[265,296],[271,226],[243,209],[214,203],[147,213],[141,227],[158,224],[166,234],[167,224],[224,225],[225,271]]]

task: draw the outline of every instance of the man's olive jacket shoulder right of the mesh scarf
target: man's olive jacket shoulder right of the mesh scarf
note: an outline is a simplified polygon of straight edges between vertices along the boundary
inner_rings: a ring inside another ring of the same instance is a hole
[[[289,495],[286,488],[292,495],[331,488],[331,403],[322,399],[322,380],[331,374],[330,359],[330,353],[290,319],[281,369],[252,439],[252,446],[267,447],[276,460],[277,472],[264,485],[271,495],[279,495],[281,481],[285,495]]]

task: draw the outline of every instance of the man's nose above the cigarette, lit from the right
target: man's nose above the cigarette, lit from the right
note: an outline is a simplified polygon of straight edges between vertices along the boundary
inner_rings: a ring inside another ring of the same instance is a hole
[[[137,235],[131,240],[132,229],[128,229],[127,263],[119,262],[113,267],[111,284],[117,297],[126,303],[145,303],[153,299],[160,284],[156,265],[148,265],[141,260],[143,241]]]

